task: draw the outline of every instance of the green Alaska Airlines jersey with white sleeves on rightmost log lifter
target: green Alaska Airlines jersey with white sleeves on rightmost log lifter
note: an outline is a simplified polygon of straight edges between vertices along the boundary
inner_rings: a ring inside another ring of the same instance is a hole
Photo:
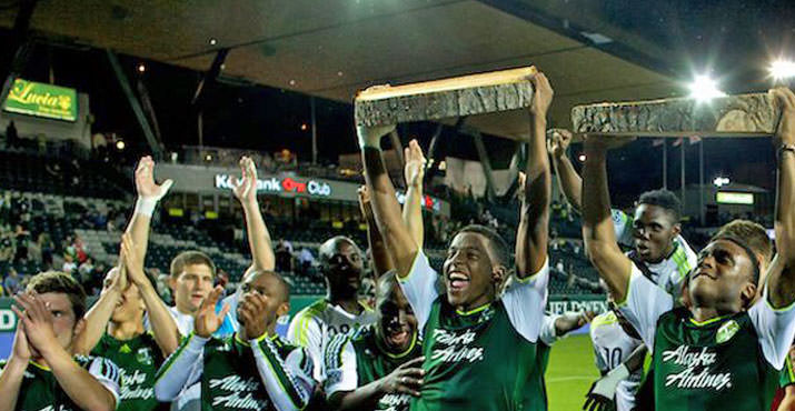
[[[703,323],[634,267],[622,312],[652,351],[658,410],[769,410],[779,384],[795,309],[766,297],[749,310]]]

